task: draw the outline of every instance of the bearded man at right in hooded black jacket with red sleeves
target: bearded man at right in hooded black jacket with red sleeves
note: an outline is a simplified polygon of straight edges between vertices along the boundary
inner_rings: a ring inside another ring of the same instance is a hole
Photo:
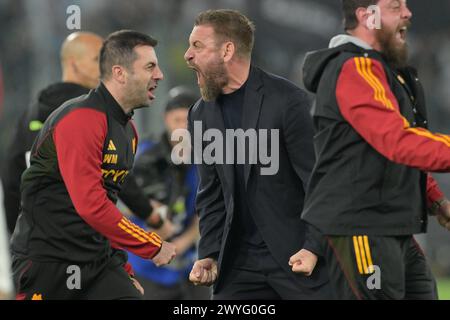
[[[342,4],[346,34],[304,64],[318,159],[303,218],[325,235],[337,298],[436,299],[413,235],[426,231],[427,212],[450,229],[450,203],[429,174],[450,172],[450,136],[427,130],[424,92],[407,66],[412,13],[405,0]]]

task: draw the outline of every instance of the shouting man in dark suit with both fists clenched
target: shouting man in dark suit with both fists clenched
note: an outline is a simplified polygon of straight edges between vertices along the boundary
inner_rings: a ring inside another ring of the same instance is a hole
[[[189,112],[201,234],[190,279],[214,284],[214,299],[327,299],[321,260],[309,274],[320,249],[300,219],[314,164],[309,101],[251,65],[253,33],[241,13],[208,10],[189,38],[202,93]]]

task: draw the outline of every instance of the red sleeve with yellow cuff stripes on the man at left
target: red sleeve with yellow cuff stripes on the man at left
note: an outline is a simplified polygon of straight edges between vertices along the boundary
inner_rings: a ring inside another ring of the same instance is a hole
[[[161,247],[154,232],[126,219],[109,200],[101,173],[106,116],[90,108],[76,109],[53,131],[58,166],[75,210],[93,229],[116,246],[149,259]]]

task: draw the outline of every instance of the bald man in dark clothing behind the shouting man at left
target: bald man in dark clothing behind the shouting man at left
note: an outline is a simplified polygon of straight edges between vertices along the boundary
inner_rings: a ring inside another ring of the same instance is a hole
[[[30,150],[47,117],[61,104],[99,84],[98,59],[103,39],[90,32],[70,34],[61,47],[62,81],[43,89],[19,118],[6,150],[2,172],[8,231],[13,233],[20,211],[20,177],[29,166]]]

